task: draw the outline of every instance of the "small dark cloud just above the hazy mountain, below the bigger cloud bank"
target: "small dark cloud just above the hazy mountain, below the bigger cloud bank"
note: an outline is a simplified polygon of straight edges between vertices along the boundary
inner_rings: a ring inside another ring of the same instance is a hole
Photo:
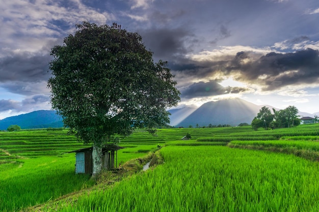
[[[240,94],[250,91],[245,87],[223,87],[218,82],[210,80],[209,82],[196,82],[180,89],[181,98],[192,99],[196,97],[210,97],[225,94]]]

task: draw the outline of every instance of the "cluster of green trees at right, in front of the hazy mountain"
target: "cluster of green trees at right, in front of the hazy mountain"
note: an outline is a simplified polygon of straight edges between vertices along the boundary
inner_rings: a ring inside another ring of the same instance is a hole
[[[261,127],[268,130],[298,126],[301,121],[297,114],[298,109],[295,106],[288,106],[283,110],[273,108],[273,113],[268,107],[264,106],[252,120],[251,127],[254,130]]]

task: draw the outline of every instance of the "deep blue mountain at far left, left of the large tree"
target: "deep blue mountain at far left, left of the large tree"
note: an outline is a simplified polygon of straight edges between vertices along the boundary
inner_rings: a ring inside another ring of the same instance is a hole
[[[21,129],[60,128],[63,127],[63,122],[56,111],[37,110],[0,120],[0,130],[7,130],[10,125],[18,125]]]

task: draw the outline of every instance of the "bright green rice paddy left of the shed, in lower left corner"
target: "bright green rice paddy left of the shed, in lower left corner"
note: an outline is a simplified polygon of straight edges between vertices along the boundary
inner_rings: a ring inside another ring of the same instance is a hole
[[[19,211],[93,185],[87,175],[74,174],[73,154],[19,159],[14,164],[10,169],[0,164],[0,211]]]

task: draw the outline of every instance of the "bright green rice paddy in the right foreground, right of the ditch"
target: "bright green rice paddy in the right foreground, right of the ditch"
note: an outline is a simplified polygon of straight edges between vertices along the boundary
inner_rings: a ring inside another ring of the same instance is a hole
[[[226,146],[168,146],[161,154],[165,163],[154,170],[48,211],[319,210],[316,163]]]

